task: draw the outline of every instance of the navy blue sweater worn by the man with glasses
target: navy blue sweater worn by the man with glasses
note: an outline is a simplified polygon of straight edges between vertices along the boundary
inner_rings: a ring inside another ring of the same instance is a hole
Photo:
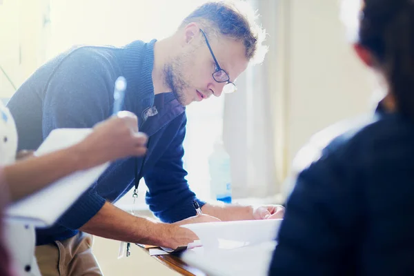
[[[184,106],[172,92],[154,95],[154,44],[135,41],[123,48],[81,46],[39,68],[8,103],[19,134],[19,149],[35,149],[55,128],[90,128],[110,117],[117,77],[127,80],[124,110],[134,112],[149,136],[141,175],[146,202],[162,221],[195,215],[195,194],[184,177]],[[138,169],[143,159],[138,159]],[[76,235],[105,201],[114,202],[134,186],[135,159],[115,161],[52,228],[37,230],[37,244]],[[132,199],[131,199],[132,200]],[[199,201],[201,206],[204,202]]]

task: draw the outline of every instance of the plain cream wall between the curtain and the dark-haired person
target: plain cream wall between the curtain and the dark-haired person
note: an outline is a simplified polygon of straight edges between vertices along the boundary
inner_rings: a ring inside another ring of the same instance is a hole
[[[371,72],[339,21],[339,1],[286,0],[286,161],[318,130],[371,108]]]

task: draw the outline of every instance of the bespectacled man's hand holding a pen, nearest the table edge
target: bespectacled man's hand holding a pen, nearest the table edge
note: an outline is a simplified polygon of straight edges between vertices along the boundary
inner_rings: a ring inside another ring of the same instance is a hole
[[[220,219],[203,214],[195,217],[188,217],[187,219],[177,221],[174,224],[166,224],[168,227],[166,233],[164,233],[163,244],[161,246],[175,249],[178,246],[186,246],[190,242],[194,242],[198,239],[193,231],[188,228],[180,227],[181,225],[215,221],[220,221]]]

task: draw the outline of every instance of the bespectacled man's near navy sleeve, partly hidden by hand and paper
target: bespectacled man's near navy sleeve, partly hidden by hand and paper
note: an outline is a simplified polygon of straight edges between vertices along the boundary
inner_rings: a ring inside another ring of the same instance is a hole
[[[43,103],[43,139],[55,128],[91,128],[110,116],[110,91],[115,72],[103,57],[88,48],[72,52],[55,69]],[[83,193],[59,219],[59,224],[77,229],[105,203],[96,183]]]

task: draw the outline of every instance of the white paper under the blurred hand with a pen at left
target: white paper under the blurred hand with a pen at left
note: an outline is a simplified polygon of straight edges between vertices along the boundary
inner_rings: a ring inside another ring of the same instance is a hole
[[[34,155],[45,155],[77,144],[90,132],[92,132],[90,128],[52,130]],[[8,219],[30,221],[38,227],[50,226],[97,180],[108,166],[109,162],[63,177],[48,188],[13,204],[6,210],[5,215]]]

